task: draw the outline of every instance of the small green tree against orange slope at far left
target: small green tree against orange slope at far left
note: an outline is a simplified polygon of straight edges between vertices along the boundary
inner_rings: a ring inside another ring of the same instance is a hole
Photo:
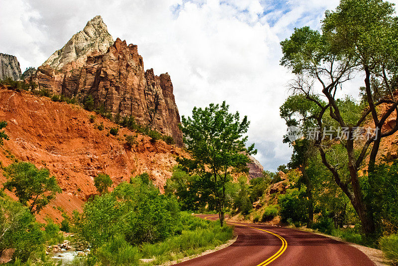
[[[19,202],[39,213],[62,190],[47,168],[37,169],[28,162],[13,163],[4,169],[7,182],[4,188],[14,192]]]

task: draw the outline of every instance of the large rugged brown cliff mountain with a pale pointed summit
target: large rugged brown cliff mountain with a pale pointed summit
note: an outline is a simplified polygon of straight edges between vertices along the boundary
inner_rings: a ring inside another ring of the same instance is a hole
[[[49,89],[55,94],[77,97],[80,101],[91,96],[95,108],[103,107],[113,116],[132,116],[142,126],[173,136],[176,144],[182,146],[182,133],[178,127],[180,114],[170,75],[157,76],[152,68],[144,71],[137,45],[127,45],[126,41],[117,38],[105,52],[103,49],[83,49],[81,53],[67,53],[76,51],[71,47],[76,47],[80,35],[89,35],[94,29],[99,33],[90,36],[110,36],[106,25],[102,24],[99,16],[89,21],[85,30],[75,34],[59,50],[59,56],[54,56],[57,52],[52,55],[27,81],[35,82],[38,89]],[[100,48],[97,37],[87,43]],[[102,48],[106,47],[109,38],[102,43]]]

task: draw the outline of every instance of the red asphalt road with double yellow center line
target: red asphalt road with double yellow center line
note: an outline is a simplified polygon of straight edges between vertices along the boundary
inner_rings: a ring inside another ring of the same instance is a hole
[[[209,215],[201,215],[204,218]],[[211,218],[216,219],[217,217]],[[176,264],[176,266],[258,266],[282,247],[278,234],[287,241],[286,251],[270,266],[375,266],[358,249],[324,236],[262,224],[235,225],[237,240],[227,248]],[[263,265],[263,264],[262,264]]]

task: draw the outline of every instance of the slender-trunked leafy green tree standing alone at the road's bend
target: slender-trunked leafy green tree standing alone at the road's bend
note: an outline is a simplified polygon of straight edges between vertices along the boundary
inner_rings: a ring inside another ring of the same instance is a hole
[[[207,180],[216,202],[221,226],[224,222],[226,201],[225,184],[230,181],[232,169],[242,169],[249,162],[247,155],[255,154],[254,144],[246,148],[250,122],[245,116],[240,120],[239,113],[228,112],[229,106],[210,104],[208,107],[194,108],[191,117],[182,117],[181,130],[191,159],[179,159],[189,172]]]

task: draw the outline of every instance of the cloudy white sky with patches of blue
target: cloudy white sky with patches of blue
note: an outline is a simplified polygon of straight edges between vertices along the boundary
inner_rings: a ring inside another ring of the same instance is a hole
[[[398,3],[398,0],[391,2]],[[115,40],[138,45],[144,67],[168,72],[180,115],[209,103],[230,105],[251,121],[248,144],[264,169],[292,153],[279,106],[290,71],[279,65],[280,42],[295,27],[320,27],[338,0],[0,0],[0,53],[22,72],[40,66],[87,21],[101,15]],[[359,80],[359,82],[358,82]],[[358,95],[361,78],[351,84]]]

